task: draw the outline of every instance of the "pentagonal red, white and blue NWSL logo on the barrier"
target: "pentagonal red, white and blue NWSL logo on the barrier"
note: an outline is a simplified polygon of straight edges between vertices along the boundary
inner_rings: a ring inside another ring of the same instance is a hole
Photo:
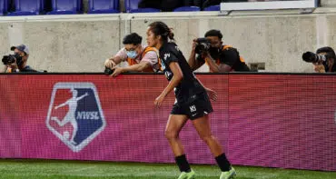
[[[79,152],[105,127],[99,96],[92,83],[54,85],[46,126],[72,151]]]

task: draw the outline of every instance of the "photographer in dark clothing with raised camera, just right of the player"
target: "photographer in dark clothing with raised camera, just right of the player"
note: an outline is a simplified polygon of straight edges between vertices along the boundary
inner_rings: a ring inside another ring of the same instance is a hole
[[[193,40],[193,51],[188,61],[193,70],[206,63],[212,73],[250,71],[237,49],[222,45],[221,31],[210,30],[204,36]]]

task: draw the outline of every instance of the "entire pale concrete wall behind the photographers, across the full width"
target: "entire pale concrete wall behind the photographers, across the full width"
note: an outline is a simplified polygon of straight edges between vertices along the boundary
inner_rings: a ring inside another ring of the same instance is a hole
[[[136,32],[145,43],[147,25],[157,20],[173,27],[187,58],[193,38],[216,28],[222,31],[224,43],[236,47],[248,64],[265,63],[267,72],[312,72],[301,54],[323,45],[336,46],[336,15],[331,9],[309,15],[288,11],[228,16],[217,12],[39,15],[0,18],[0,53],[5,55],[10,45],[25,43],[31,52],[28,64],[36,69],[102,72],[104,59],[123,46],[124,35]],[[200,71],[207,71],[207,66]]]

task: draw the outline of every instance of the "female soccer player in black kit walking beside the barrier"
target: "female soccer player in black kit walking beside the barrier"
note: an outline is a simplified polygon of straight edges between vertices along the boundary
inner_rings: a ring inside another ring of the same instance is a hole
[[[192,120],[197,133],[209,146],[221,168],[220,179],[230,179],[235,175],[235,171],[222,152],[221,144],[212,135],[209,123],[212,104],[208,94],[212,100],[215,100],[217,96],[211,89],[205,88],[193,75],[192,69],[178,46],[168,40],[173,40],[173,32],[167,25],[163,22],[153,22],[149,25],[147,43],[149,46],[159,49],[163,73],[169,81],[162,94],[155,99],[154,104],[160,107],[164,98],[173,89],[176,96],[176,102],[166,125],[165,136],[172,147],[176,164],[181,171],[179,179],[192,179],[195,176],[179,138],[179,133],[188,118]]]

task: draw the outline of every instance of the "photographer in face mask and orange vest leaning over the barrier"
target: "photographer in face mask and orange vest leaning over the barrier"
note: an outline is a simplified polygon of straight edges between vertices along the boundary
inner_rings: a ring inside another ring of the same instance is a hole
[[[122,48],[114,57],[105,61],[105,75],[117,76],[125,72],[157,72],[160,70],[156,48],[141,45],[143,37],[132,33],[124,36]],[[122,61],[128,66],[117,67]]]

